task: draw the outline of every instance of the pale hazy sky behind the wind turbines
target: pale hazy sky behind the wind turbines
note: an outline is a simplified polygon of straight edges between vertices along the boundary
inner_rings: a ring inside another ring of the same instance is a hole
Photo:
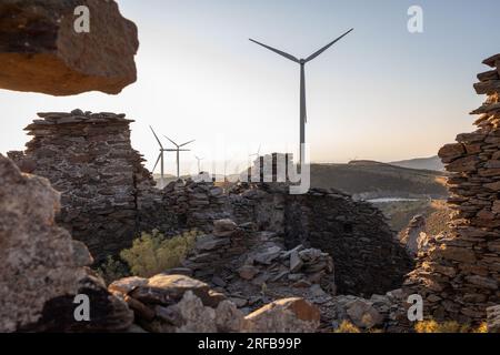
[[[23,148],[22,128],[36,112],[74,108],[134,119],[132,143],[148,168],[158,155],[149,124],[181,142],[197,139],[183,171],[193,154],[209,170],[214,156],[246,162],[259,144],[294,151],[299,67],[248,38],[307,57],[354,28],[307,65],[312,160],[430,156],[473,129],[468,112],[483,101],[472,89],[476,74],[500,51],[498,0],[118,2],[139,27],[138,82],[116,97],[0,90],[0,152]],[[412,4],[423,8],[421,34],[407,30]],[[173,155],[167,169],[173,172]]]

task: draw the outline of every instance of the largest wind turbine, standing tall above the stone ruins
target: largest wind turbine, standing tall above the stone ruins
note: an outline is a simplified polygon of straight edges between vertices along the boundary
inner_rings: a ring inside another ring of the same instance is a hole
[[[327,49],[329,49],[330,47],[332,47],[334,43],[337,43],[338,41],[340,41],[343,37],[346,37],[347,34],[349,34],[353,29],[350,29],[349,31],[347,31],[346,33],[343,33],[342,36],[340,36],[338,39],[336,39],[334,41],[328,43],[327,45],[324,45],[323,48],[321,48],[320,50],[316,51],[314,53],[312,53],[311,55],[309,55],[306,59],[298,59],[289,53],[286,53],[283,51],[280,51],[276,48],[269,47],[267,44],[260,43],[256,40],[250,39],[250,41],[252,41],[253,43],[257,43],[259,45],[262,45],[266,49],[269,49],[270,51],[273,51],[274,53],[278,53],[289,60],[291,60],[292,62],[299,63],[300,64],[300,164],[302,165],[302,146],[304,146],[303,144],[306,143],[306,123],[308,120],[308,114],[307,114],[307,109],[306,109],[306,63],[310,62],[311,60],[313,60],[314,58],[317,58],[318,55],[320,55],[322,52],[324,52]]]

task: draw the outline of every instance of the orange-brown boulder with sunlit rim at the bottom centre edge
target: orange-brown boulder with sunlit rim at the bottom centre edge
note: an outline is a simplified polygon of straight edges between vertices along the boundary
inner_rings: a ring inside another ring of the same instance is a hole
[[[319,310],[301,298],[276,301],[246,317],[244,332],[311,333],[320,322]]]

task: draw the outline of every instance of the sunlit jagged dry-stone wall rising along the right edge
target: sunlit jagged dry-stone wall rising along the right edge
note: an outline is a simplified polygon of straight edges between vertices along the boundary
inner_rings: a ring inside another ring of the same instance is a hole
[[[439,155],[451,172],[450,233],[420,255],[408,285],[427,301],[430,316],[481,322],[500,303],[500,54],[483,62],[494,70],[478,75],[487,94],[473,133],[459,134]]]

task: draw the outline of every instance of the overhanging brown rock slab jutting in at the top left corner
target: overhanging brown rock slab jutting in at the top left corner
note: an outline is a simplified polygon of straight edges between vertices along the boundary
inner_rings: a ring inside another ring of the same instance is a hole
[[[77,33],[74,10],[90,10]],[[137,27],[114,1],[3,0],[0,3],[0,88],[52,95],[117,94],[137,80]]]

